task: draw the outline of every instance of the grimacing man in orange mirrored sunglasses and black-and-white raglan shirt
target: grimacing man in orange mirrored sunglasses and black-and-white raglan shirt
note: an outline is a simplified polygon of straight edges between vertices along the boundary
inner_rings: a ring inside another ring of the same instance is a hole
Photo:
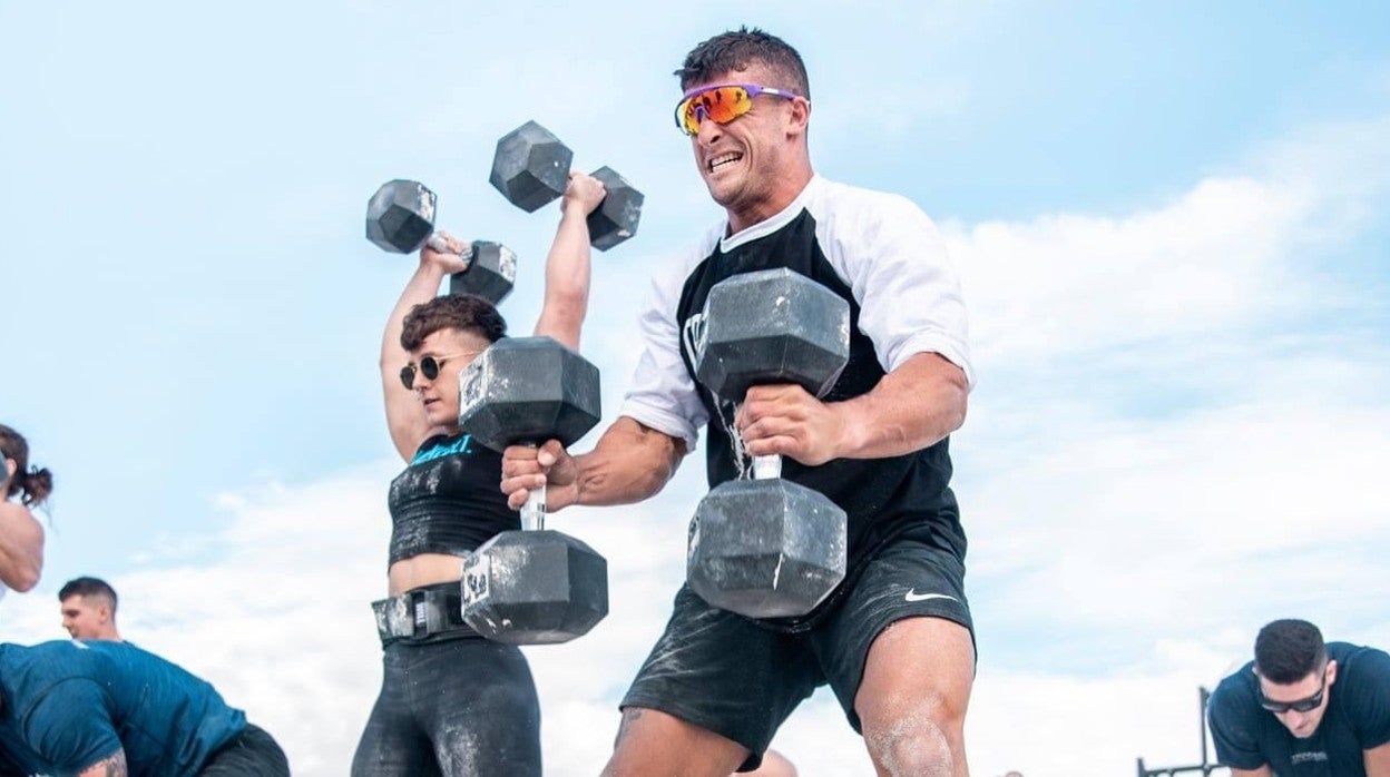
[[[753,769],[828,684],[878,774],[963,776],[974,638],[947,441],[965,420],[972,368],[955,270],[910,200],[815,174],[806,69],[785,42],[726,32],[677,75],[677,128],[726,220],[657,272],[639,318],[645,352],[595,449],[509,448],[502,488],[512,507],[542,484],[550,509],[638,502],[705,428],[710,486],[778,453],[783,477],[845,510],[848,574],[812,613],[778,620],[714,609],[682,587],[620,703],[605,774]],[[735,404],[696,379],[709,289],[771,268],[849,304],[849,364],[824,399],[769,385]]]

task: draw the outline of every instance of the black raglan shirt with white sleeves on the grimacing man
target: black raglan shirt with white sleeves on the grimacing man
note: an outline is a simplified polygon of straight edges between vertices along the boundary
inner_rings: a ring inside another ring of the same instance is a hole
[[[685,441],[687,450],[708,427],[712,488],[751,477],[733,430],[735,404],[699,385],[694,366],[705,297],[731,275],[787,267],[849,303],[849,363],[824,402],[869,392],[917,353],[941,354],[974,384],[959,279],[935,225],[906,197],[815,177],[773,218],[737,235],[724,236],[726,229],[709,231],[655,278],[639,318],[645,352],[621,407],[623,416]],[[785,457],[783,477],[848,513],[851,575],[908,532],[965,559],[947,439],[905,456],[819,467]]]

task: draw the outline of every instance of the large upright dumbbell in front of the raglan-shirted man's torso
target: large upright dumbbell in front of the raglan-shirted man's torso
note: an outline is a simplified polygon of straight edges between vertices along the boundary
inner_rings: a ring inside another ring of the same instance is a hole
[[[753,385],[815,396],[849,360],[849,303],[787,268],[734,275],[705,302],[699,381],[742,402]],[[753,619],[809,613],[845,577],[845,512],[781,478],[781,456],[753,457],[753,480],[714,486],[691,521],[685,578],[710,605]]]

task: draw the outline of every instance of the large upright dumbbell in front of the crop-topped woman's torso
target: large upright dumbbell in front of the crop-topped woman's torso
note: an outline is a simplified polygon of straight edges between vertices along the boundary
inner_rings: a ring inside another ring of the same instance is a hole
[[[559,439],[600,417],[599,370],[550,338],[503,338],[459,377],[459,427],[493,450]],[[607,562],[545,528],[545,488],[531,491],[521,531],[503,531],[463,564],[463,617],[512,645],[567,642],[607,614]]]

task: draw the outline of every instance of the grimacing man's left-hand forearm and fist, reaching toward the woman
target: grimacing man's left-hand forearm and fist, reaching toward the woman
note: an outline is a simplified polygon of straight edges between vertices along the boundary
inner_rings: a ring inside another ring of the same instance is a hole
[[[631,505],[659,492],[685,456],[685,442],[620,417],[594,450],[570,456],[557,441],[523,445],[502,455],[502,491],[520,510],[528,489],[549,484],[546,509],[569,505]],[[549,477],[549,480],[546,480]]]

